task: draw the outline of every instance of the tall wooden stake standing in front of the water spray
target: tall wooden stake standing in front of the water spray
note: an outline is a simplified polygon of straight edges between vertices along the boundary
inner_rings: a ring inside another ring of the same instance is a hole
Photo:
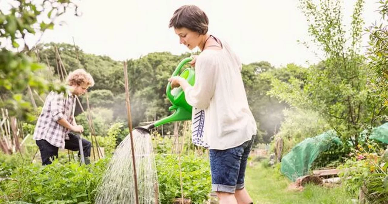
[[[124,61],[124,80],[125,80],[125,102],[126,102],[126,110],[128,113],[128,127],[129,127],[129,134],[131,139],[131,150],[132,150],[132,164],[133,164],[133,181],[135,185],[135,199],[136,204],[139,204],[139,192],[137,189],[137,173],[136,173],[136,163],[135,163],[135,150],[133,145],[133,134],[132,134],[132,116],[131,116],[131,105],[130,105],[130,99],[129,99],[129,91],[128,91],[128,70],[126,67],[126,61]]]

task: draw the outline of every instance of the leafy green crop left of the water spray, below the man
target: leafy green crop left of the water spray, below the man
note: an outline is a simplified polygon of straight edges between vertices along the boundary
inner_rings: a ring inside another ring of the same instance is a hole
[[[0,202],[24,201],[30,203],[94,203],[96,187],[105,171],[108,159],[90,165],[78,163],[41,166],[18,166],[12,180],[0,183]],[[6,196],[5,196],[6,195]]]

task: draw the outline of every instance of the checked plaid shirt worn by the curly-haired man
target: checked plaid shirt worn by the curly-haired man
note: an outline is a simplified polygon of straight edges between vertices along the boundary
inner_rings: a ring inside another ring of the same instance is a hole
[[[33,139],[44,139],[51,145],[64,148],[70,130],[57,123],[57,120],[63,118],[73,124],[75,100],[75,96],[69,91],[67,96],[64,93],[50,92],[36,122]]]

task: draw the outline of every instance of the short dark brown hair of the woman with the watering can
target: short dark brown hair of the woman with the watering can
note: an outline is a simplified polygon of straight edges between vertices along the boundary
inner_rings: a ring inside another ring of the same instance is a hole
[[[208,32],[209,19],[203,10],[195,5],[184,5],[175,10],[168,28],[187,28],[204,35]]]

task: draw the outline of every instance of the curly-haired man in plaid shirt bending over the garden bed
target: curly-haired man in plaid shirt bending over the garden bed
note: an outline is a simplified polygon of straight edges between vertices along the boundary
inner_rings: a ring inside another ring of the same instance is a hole
[[[83,127],[77,125],[74,119],[76,96],[85,94],[88,87],[94,85],[94,80],[85,70],[78,69],[69,73],[66,83],[66,93],[50,92],[36,122],[33,139],[39,147],[43,165],[51,164],[58,157],[59,148],[80,150],[80,136],[74,134],[83,132]],[[91,143],[82,139],[82,146],[85,164],[89,164]]]

